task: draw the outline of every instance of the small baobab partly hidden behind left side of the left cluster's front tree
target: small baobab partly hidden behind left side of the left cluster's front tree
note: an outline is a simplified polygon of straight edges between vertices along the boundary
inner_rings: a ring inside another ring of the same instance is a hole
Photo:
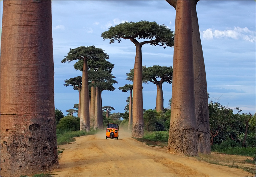
[[[66,83],[66,84],[64,84],[66,87],[71,85],[71,86],[73,86],[74,90],[78,90],[78,92],[79,92],[78,117],[80,117],[82,77],[81,76],[73,77],[73,78],[70,78],[69,80],[67,79],[64,82]]]

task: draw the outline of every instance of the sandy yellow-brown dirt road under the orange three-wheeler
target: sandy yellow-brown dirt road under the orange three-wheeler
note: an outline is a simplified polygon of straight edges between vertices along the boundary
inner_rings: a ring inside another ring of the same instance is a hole
[[[119,139],[105,132],[75,138],[60,145],[60,168],[54,176],[253,176],[241,169],[208,164],[196,158],[174,155],[150,147],[120,131]]]

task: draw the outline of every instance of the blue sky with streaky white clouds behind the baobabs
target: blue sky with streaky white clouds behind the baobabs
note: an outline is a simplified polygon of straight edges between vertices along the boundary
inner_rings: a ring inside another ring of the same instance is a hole
[[[197,16],[207,78],[209,100],[230,109],[240,107],[255,113],[255,1],[199,1]],[[1,27],[3,1],[1,1]],[[82,76],[73,67],[76,61],[60,63],[70,48],[92,46],[105,50],[118,84],[115,91],[102,92],[102,106],[124,112],[129,93],[118,90],[126,73],[134,67],[135,45],[128,40],[109,44],[101,33],[124,21],[163,23],[175,30],[175,9],[166,1],[52,1],[52,34],[55,71],[55,108],[64,112],[78,103],[78,91],[64,86],[64,80]],[[142,47],[142,65],[173,66],[173,48]],[[164,107],[172,97],[172,85],[163,84]],[[143,107],[156,107],[156,85],[143,84]],[[236,110],[234,110],[236,113]]]

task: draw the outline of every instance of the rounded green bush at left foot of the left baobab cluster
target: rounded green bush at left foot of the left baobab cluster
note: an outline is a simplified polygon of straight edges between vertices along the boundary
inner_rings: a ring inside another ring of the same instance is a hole
[[[65,116],[60,120],[57,129],[77,131],[80,129],[80,118]]]

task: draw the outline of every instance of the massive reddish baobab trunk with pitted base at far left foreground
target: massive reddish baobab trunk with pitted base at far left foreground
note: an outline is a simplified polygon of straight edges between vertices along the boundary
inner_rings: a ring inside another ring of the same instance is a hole
[[[51,1],[4,1],[1,39],[1,176],[59,167]]]

